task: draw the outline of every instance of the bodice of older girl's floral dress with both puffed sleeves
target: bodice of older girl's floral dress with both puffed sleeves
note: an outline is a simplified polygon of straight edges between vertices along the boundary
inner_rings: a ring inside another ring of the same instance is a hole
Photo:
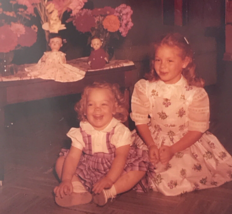
[[[180,131],[205,132],[209,128],[209,99],[201,87],[189,86],[182,76],[175,84],[161,80],[139,80],[131,101],[131,118],[136,125],[158,124]]]

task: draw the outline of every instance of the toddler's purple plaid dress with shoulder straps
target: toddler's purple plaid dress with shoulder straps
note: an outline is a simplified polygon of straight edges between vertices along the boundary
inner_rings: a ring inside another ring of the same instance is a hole
[[[115,130],[106,133],[106,143],[108,153],[92,151],[92,135],[88,134],[84,129],[80,128],[85,146],[82,150],[82,156],[76,169],[76,176],[79,176],[82,184],[91,192],[93,185],[104,177],[111,168],[115,158],[116,147],[111,143]],[[60,155],[66,156],[68,150],[62,149]],[[124,167],[123,174],[129,171],[147,171],[150,167],[148,154],[146,151],[132,146],[129,150],[127,161]]]

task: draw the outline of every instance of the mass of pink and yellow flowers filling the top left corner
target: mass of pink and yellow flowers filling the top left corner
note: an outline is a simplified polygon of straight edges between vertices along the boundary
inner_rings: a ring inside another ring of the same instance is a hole
[[[61,23],[63,13],[70,11],[74,16],[85,2],[87,0],[1,0],[0,52],[30,47],[36,42],[38,26],[31,24],[36,14],[46,33],[58,33],[65,29]]]

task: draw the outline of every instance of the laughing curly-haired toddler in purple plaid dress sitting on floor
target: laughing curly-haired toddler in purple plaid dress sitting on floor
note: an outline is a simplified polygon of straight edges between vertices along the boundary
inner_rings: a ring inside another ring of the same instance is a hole
[[[100,206],[108,198],[130,190],[149,166],[146,152],[130,147],[131,133],[121,122],[127,119],[123,96],[117,85],[93,83],[85,88],[76,106],[80,128],[67,136],[72,145],[58,158],[61,183],[55,201],[62,207],[89,203]]]

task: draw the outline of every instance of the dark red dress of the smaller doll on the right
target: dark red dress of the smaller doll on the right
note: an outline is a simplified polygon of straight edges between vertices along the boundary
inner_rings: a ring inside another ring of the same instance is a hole
[[[98,50],[92,50],[88,58],[88,62],[91,62],[90,67],[92,69],[104,68],[106,64],[105,58],[107,57],[107,53],[102,48],[99,48]]]

